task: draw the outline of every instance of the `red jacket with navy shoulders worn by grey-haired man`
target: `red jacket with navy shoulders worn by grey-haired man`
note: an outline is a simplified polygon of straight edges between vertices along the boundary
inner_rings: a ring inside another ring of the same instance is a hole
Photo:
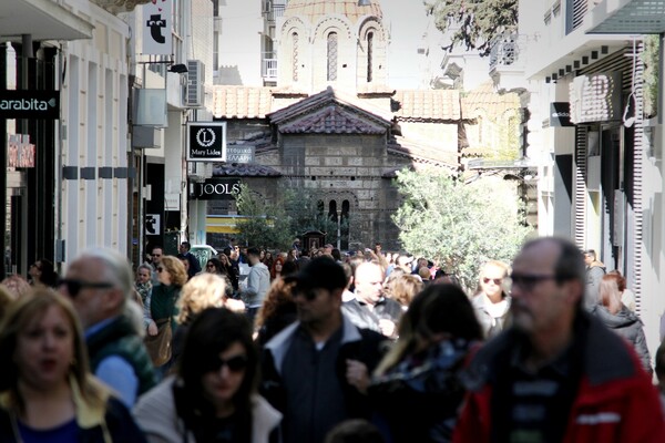
[[[583,373],[570,411],[563,443],[665,442],[658,392],[627,343],[597,320],[584,328]],[[507,331],[484,346],[464,375],[469,393],[454,443],[490,442],[492,368],[508,364],[515,333]]]

